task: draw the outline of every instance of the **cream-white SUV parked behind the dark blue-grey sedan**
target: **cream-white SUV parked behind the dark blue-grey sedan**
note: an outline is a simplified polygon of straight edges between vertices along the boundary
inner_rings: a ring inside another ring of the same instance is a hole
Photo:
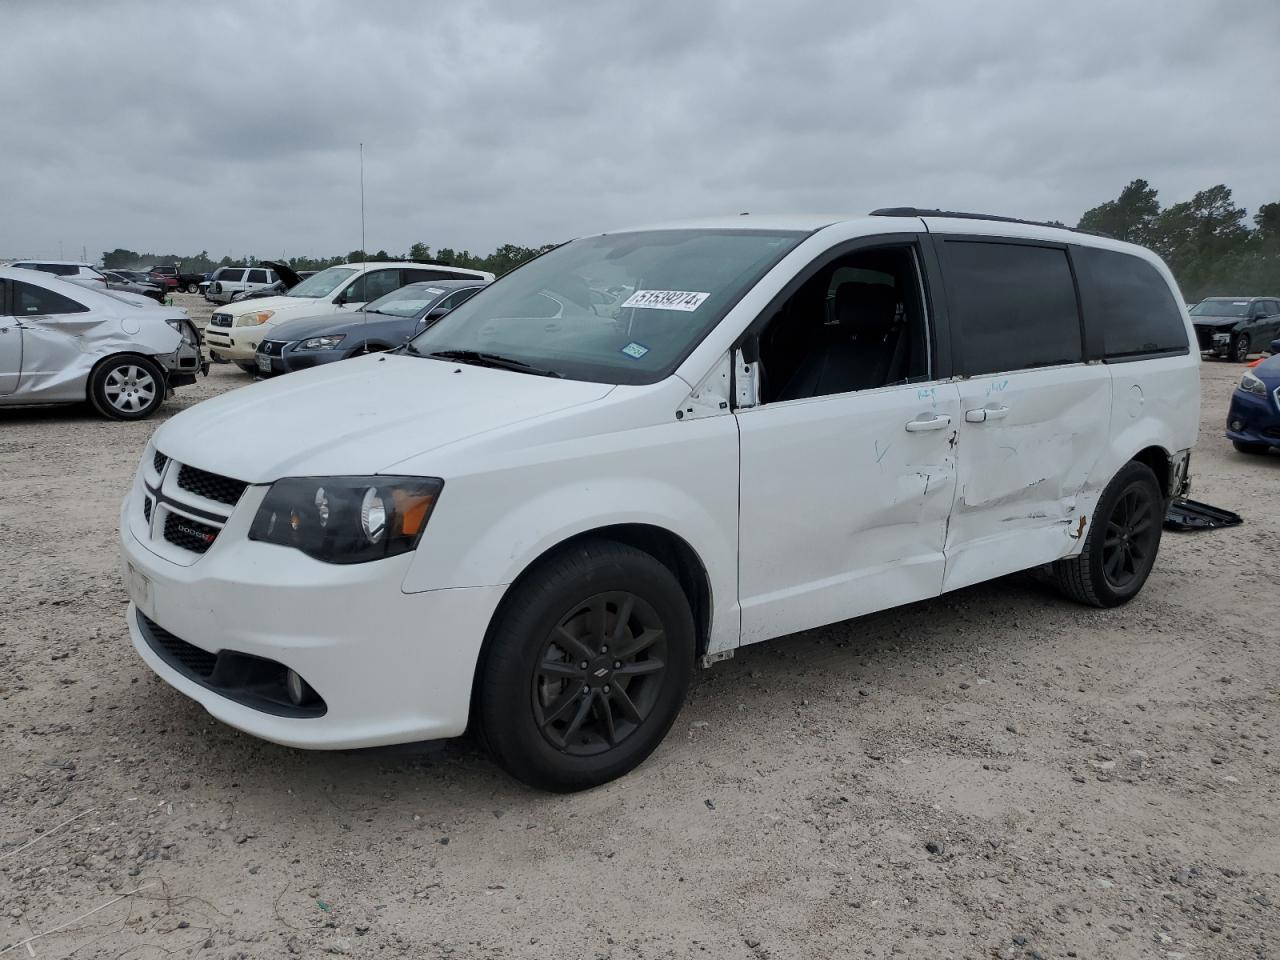
[[[271,326],[301,316],[358,310],[369,301],[419,280],[492,280],[493,274],[413,262],[342,264],[321,270],[282,297],[230,303],[215,310],[205,328],[210,353],[242,370],[257,369],[255,353]]]

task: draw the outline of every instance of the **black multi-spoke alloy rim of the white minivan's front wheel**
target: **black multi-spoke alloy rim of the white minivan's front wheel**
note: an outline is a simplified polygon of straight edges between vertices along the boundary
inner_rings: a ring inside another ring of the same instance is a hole
[[[543,643],[531,690],[538,728],[571,756],[611,750],[653,712],[666,668],[667,635],[653,607],[631,593],[596,594]]]

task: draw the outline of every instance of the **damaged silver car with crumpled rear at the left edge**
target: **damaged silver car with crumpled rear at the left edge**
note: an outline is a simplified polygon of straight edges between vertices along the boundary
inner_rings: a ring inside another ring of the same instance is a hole
[[[140,301],[0,268],[0,407],[88,401],[113,420],[142,420],[207,374],[186,312]]]

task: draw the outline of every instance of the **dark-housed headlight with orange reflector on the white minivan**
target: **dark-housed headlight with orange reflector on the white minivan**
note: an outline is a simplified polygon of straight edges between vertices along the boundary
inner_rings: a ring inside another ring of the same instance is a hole
[[[248,539],[302,550],[325,563],[366,563],[412,550],[443,480],[315,476],[276,480]]]

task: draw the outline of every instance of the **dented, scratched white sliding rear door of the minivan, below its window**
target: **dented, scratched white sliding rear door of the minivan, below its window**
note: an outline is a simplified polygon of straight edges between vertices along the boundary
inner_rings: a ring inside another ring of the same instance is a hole
[[[947,532],[945,590],[1028,570],[1079,549],[1079,498],[1110,434],[1111,376],[1078,364],[960,383],[959,484]]]

